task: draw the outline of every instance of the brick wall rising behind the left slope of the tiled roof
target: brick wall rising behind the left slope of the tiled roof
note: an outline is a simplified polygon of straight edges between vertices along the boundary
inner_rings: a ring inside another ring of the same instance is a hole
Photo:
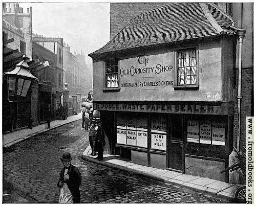
[[[110,39],[130,21],[139,15],[169,3],[110,3]]]

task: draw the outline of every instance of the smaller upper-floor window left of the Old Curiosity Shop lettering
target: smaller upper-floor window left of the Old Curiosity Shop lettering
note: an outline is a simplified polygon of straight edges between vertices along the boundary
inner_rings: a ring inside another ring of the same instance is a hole
[[[118,88],[118,59],[107,59],[105,61],[106,88]]]

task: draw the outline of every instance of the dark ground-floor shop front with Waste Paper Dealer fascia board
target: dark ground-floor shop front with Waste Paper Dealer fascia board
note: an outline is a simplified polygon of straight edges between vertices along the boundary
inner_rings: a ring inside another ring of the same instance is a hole
[[[96,103],[111,112],[114,153],[133,163],[225,181],[229,116],[220,103]]]

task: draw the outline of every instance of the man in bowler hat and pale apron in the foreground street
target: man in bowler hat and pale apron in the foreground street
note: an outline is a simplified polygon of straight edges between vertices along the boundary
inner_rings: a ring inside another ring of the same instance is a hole
[[[63,168],[60,171],[58,180],[59,203],[80,203],[80,191],[82,176],[77,167],[71,165],[71,154],[64,152],[61,162]]]

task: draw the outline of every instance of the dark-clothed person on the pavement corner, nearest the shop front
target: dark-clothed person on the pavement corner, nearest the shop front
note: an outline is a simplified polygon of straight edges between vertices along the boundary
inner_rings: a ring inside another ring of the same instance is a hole
[[[98,156],[96,157],[96,159],[98,159],[99,161],[103,160],[103,147],[105,146],[105,131],[104,129],[101,127],[101,120],[97,121],[97,131],[96,131],[96,135],[95,135],[95,151],[98,152]]]

